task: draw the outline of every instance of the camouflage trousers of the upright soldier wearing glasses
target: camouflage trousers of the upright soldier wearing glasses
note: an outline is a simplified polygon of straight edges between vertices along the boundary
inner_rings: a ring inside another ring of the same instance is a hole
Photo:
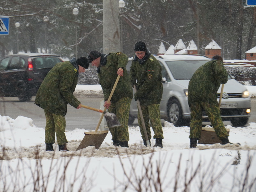
[[[156,139],[156,138],[164,139],[161,117],[160,117],[160,105],[159,104],[154,104],[154,105],[145,105],[145,106],[140,106],[140,107],[141,107],[143,119],[144,119],[144,122],[145,122],[146,130],[147,130],[147,134],[148,134],[148,139],[149,140],[151,139],[149,120],[150,120],[150,124],[152,126],[152,129],[155,133],[153,138],[154,139]],[[141,137],[142,137],[143,140],[146,140],[139,110],[138,110],[138,123],[139,123],[139,126],[140,126]]]

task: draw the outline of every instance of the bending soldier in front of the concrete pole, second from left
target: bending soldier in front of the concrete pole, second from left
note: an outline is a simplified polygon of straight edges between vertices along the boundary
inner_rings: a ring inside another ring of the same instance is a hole
[[[113,145],[129,147],[128,119],[132,101],[132,86],[125,68],[128,57],[122,52],[106,55],[92,50],[88,55],[88,59],[92,66],[97,67],[100,85],[104,94],[104,107],[108,108],[108,112],[116,114],[121,124],[119,127],[108,126],[112,134]],[[107,103],[118,75],[120,75],[119,82],[116,85],[111,102]]]

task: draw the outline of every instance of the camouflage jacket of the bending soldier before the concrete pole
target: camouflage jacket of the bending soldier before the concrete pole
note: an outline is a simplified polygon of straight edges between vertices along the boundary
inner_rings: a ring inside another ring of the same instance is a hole
[[[129,76],[125,68],[127,62],[128,56],[122,52],[109,53],[108,55],[101,54],[98,76],[105,100],[108,99],[116,82],[118,68],[121,67],[124,69],[123,76],[120,76],[111,98],[111,103],[116,103],[123,97],[129,97],[132,99],[132,86],[129,82]]]

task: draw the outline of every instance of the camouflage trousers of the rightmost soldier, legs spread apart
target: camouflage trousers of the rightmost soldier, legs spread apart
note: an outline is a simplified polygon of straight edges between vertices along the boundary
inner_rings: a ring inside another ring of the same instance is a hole
[[[228,137],[227,130],[220,117],[220,110],[218,106],[211,105],[206,102],[195,102],[190,104],[191,110],[191,123],[190,123],[190,134],[189,138],[196,138],[197,140],[201,137],[202,130],[202,109],[206,112],[209,120],[214,128],[219,139]]]

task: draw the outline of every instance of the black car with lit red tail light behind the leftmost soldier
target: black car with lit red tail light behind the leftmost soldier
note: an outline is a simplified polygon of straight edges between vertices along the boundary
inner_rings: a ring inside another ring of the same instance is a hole
[[[0,96],[29,101],[51,68],[62,62],[59,55],[22,53],[0,60]]]

